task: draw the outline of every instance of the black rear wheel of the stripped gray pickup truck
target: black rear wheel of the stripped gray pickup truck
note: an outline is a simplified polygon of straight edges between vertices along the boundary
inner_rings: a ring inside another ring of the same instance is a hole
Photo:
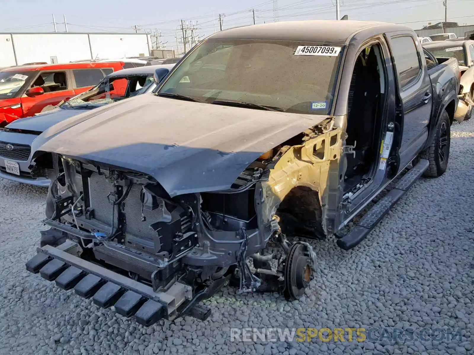
[[[429,161],[429,167],[423,174],[426,177],[438,177],[444,174],[449,160],[449,147],[451,145],[451,126],[449,115],[443,111],[436,126],[433,140],[427,149],[420,152],[414,163],[420,159]]]

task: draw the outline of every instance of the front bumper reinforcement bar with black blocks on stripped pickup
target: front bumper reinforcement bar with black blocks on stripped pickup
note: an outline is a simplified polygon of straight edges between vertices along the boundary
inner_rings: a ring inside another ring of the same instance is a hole
[[[46,245],[37,248],[36,256],[26,263],[27,271],[48,281],[55,281],[64,290],[74,292],[102,307],[114,306],[115,311],[124,316],[135,316],[137,323],[150,326],[162,318],[174,319],[177,309],[186,300],[192,299],[189,285],[175,282],[166,292],[154,292],[153,288],[120,275],[100,265],[74,256],[67,249],[75,243],[66,241],[64,245]]]

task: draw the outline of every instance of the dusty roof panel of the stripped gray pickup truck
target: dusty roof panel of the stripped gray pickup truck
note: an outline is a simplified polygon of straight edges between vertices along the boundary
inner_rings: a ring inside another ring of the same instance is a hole
[[[344,44],[356,32],[369,27],[380,27],[380,33],[407,30],[410,27],[384,22],[352,20],[302,20],[229,28],[209,38],[267,39],[301,42]]]

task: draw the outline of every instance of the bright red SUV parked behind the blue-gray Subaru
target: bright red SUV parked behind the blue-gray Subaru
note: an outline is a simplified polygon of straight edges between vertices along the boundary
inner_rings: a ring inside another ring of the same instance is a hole
[[[0,127],[91,89],[124,62],[25,65],[0,71]]]

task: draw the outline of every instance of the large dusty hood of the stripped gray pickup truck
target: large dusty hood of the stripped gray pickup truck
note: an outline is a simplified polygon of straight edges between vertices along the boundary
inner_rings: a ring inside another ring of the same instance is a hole
[[[327,117],[141,95],[56,124],[32,151],[145,173],[173,197],[230,188],[263,153]]]

